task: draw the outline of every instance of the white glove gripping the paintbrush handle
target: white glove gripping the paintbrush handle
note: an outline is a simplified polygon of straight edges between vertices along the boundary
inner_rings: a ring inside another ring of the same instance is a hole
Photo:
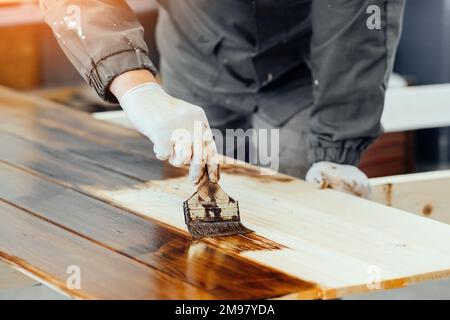
[[[153,142],[159,160],[176,167],[190,164],[194,184],[208,163],[211,181],[218,181],[216,145],[201,107],[168,95],[153,82],[131,89],[119,100],[132,125]]]

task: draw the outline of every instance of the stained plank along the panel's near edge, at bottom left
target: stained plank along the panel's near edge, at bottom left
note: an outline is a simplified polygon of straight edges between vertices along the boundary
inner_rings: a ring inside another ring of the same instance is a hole
[[[63,292],[90,299],[212,298],[62,228],[0,202],[0,259]],[[68,267],[78,266],[81,288],[69,289]]]

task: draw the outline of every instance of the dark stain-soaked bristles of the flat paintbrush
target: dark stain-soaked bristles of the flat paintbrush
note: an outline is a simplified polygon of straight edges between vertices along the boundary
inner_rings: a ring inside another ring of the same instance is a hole
[[[195,239],[225,237],[252,232],[239,221],[191,222],[188,229]]]

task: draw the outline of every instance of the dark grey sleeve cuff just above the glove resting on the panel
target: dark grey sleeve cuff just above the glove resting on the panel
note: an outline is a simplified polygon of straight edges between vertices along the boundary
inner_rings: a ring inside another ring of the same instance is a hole
[[[340,148],[311,148],[309,150],[309,161],[311,163],[319,161],[329,161],[338,164],[348,164],[357,166],[361,160],[364,149],[340,149]]]

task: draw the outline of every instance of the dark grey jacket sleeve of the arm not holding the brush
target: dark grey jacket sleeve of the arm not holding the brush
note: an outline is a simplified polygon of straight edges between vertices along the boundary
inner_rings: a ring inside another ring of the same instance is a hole
[[[312,1],[311,162],[357,165],[381,134],[403,8],[404,0]]]

